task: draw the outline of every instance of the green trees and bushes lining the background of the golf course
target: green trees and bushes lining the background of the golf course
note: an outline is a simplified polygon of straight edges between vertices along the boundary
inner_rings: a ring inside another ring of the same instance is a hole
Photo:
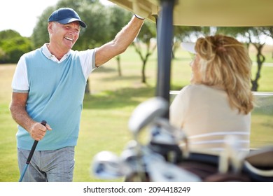
[[[34,27],[31,37],[22,37],[17,31],[0,31],[0,64],[17,63],[24,53],[40,48],[43,43],[49,41],[48,17],[60,7],[70,7],[78,12],[80,18],[85,21],[87,28],[82,28],[80,38],[73,46],[73,50],[86,50],[96,48],[116,36],[122,27],[132,18],[132,13],[118,6],[104,6],[99,0],[59,0],[55,6],[43,10],[38,22]],[[258,79],[265,56],[262,55],[262,48],[265,42],[260,40],[261,36],[273,38],[273,27],[174,27],[174,41],[172,57],[175,58],[176,49],[182,41],[193,41],[193,38],[207,36],[210,34],[228,34],[240,36],[247,46],[253,45],[257,50],[256,62],[257,73],[251,81],[252,90],[258,90]],[[132,44],[139,55],[141,66],[141,82],[146,83],[145,68],[148,58],[156,49],[156,24],[146,20],[141,28],[139,36]],[[272,53],[273,55],[273,53]],[[122,76],[120,56],[116,57],[118,62],[118,74]],[[88,90],[87,90],[88,91]]]

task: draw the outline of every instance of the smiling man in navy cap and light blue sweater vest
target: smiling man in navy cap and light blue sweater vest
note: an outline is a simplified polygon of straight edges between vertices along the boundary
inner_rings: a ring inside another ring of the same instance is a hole
[[[86,27],[71,8],[48,19],[49,43],[22,55],[13,76],[10,112],[18,123],[20,173],[33,141],[39,141],[23,181],[72,181],[85,85],[90,73],[124,52],[144,18],[134,15],[113,41],[99,48],[71,50]],[[47,125],[41,125],[46,120]],[[50,130],[50,132],[47,132]]]

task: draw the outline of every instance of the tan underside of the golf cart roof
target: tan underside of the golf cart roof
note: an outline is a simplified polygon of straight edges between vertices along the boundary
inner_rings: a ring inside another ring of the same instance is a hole
[[[159,0],[110,0],[116,5],[155,22]],[[167,0],[165,0],[167,1]],[[202,27],[273,26],[273,1],[176,0],[173,25]]]

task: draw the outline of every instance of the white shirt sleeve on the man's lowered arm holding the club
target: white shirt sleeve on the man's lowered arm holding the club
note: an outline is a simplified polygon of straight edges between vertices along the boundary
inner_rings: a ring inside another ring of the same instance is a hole
[[[27,78],[27,64],[25,61],[25,56],[20,57],[18,64],[13,75],[13,80],[11,83],[13,92],[28,92],[29,91],[29,81]]]

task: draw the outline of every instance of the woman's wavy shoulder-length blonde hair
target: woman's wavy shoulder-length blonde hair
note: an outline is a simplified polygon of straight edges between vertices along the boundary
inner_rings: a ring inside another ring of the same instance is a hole
[[[235,38],[216,35],[199,38],[195,50],[200,55],[201,83],[223,87],[230,106],[249,113],[253,109],[252,62],[246,47]]]

